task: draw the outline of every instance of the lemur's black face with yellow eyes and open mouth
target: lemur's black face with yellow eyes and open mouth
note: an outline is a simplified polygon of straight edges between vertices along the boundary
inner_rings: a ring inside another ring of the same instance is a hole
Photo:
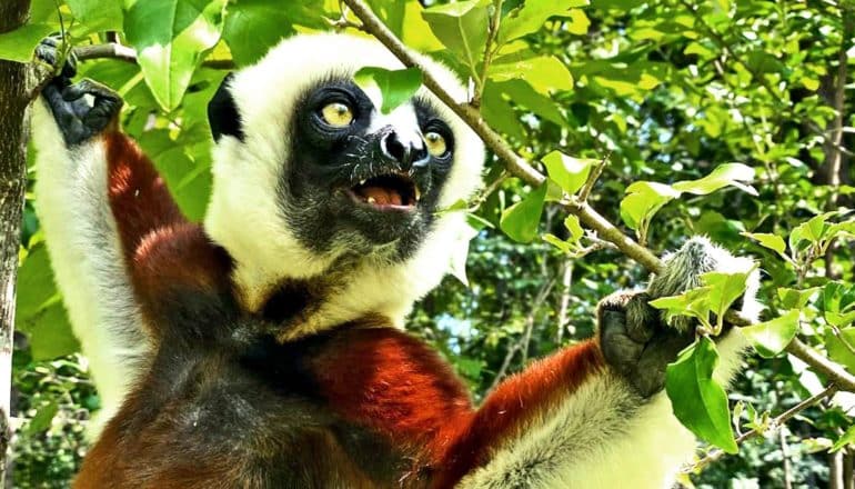
[[[280,182],[284,216],[315,251],[346,247],[410,256],[430,229],[451,170],[454,139],[428,103],[398,126],[353,82],[332,80],[298,103],[291,161]],[[400,119],[399,119],[400,120]]]

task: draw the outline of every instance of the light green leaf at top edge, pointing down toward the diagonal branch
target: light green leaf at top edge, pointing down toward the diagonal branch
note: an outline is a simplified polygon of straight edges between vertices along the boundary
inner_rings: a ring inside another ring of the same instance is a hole
[[[470,0],[431,7],[422,17],[431,31],[452,52],[476,72],[486,44],[489,0]]]

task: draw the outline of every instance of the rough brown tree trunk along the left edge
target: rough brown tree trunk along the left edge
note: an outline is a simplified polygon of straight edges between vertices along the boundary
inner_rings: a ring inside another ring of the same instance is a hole
[[[22,26],[30,0],[0,0],[0,33]],[[9,452],[9,412],[21,212],[27,178],[29,67],[0,60],[0,486]]]

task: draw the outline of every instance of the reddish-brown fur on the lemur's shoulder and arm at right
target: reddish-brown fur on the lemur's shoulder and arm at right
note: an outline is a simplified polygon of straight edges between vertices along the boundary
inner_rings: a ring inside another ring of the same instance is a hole
[[[502,382],[475,411],[447,363],[394,329],[345,331],[314,362],[330,406],[396,446],[418,448],[435,488],[453,487],[486,462],[491,449],[603,365],[594,341],[566,348]]]

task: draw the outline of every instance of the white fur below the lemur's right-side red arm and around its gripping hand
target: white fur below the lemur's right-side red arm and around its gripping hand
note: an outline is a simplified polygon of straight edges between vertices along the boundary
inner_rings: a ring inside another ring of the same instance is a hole
[[[696,247],[696,251],[710,257],[712,261],[706,265],[715,270],[744,272],[754,268],[753,260],[734,257],[705,238],[693,238],[687,246]],[[666,257],[666,261],[673,257],[684,259],[688,250],[684,248]],[[675,267],[666,271],[696,271],[683,262]],[[665,273],[663,277],[672,282],[663,286],[666,290],[668,287],[690,287],[688,282],[693,281],[687,280],[692,278],[690,275]],[[760,286],[756,270],[747,283],[742,313],[756,320],[761,308],[755,300]],[[746,346],[745,337],[736,328],[717,341],[720,361],[713,372],[716,381],[723,385],[731,381],[740,369]],[[532,420],[523,436],[497,447],[491,461],[464,478],[459,487],[672,487],[680,468],[692,459],[694,436],[674,417],[671,400],[664,391],[647,401],[631,392],[630,386],[607,369],[593,375],[575,392],[567,393],[556,409]]]

